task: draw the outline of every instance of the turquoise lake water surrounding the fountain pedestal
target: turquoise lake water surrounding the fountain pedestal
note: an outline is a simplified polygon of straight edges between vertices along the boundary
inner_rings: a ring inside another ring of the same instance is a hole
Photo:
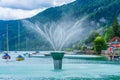
[[[0,57],[2,54],[0,55]],[[24,61],[0,59],[0,80],[119,80],[119,61],[88,59],[89,55],[69,55],[63,69],[54,70],[51,57],[26,57]],[[84,57],[81,58],[81,57]],[[85,58],[86,57],[86,58]]]

